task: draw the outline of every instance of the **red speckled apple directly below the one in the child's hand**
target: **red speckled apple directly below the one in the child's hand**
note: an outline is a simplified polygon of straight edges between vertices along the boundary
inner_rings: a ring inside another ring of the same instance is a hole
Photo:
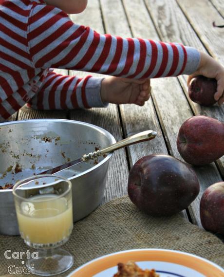
[[[191,165],[216,161],[224,155],[224,123],[204,115],[188,118],[179,129],[177,149]]]

